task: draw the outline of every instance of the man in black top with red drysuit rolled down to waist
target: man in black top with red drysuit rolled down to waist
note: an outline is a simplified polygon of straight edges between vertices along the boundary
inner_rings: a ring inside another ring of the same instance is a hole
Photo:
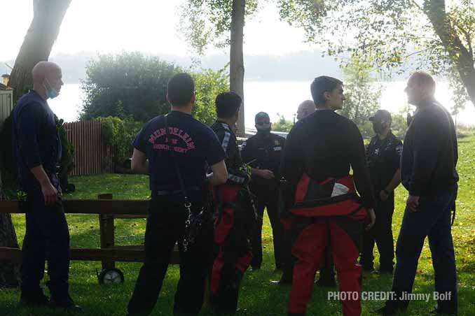
[[[336,78],[315,78],[310,89],[317,110],[298,121],[287,136],[282,175],[294,189],[290,212],[296,240],[292,254],[298,260],[289,315],[305,315],[315,271],[324,264],[328,244],[340,291],[361,292],[362,267],[357,259],[367,215],[366,228],[374,224],[375,201],[362,136],[353,122],[334,112],[345,100],[342,86]],[[359,295],[342,303],[343,315],[360,315]]]

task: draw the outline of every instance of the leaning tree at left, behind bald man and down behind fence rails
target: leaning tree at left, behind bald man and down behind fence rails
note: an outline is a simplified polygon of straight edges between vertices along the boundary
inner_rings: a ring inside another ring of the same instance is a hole
[[[69,3],[71,0],[33,1],[32,24],[15,59],[15,66],[8,81],[8,85],[13,88],[14,102],[25,89],[32,86],[34,65],[48,60]],[[0,185],[0,200],[2,197]],[[18,247],[10,214],[0,213],[0,247]],[[18,286],[18,280],[18,266],[8,261],[0,261],[0,286],[15,287]]]

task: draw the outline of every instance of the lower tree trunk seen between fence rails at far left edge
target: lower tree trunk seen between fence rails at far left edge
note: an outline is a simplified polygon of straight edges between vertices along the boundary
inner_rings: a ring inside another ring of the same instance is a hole
[[[4,201],[1,178],[0,201]],[[0,213],[0,247],[18,248],[17,235],[11,221],[11,215],[6,213]],[[18,287],[18,285],[20,285],[18,264],[13,264],[11,261],[0,261],[0,287]]]

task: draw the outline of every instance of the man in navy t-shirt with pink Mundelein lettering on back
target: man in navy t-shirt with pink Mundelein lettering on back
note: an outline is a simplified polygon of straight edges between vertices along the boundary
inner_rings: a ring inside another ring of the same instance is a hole
[[[152,198],[145,231],[145,261],[128,304],[129,315],[149,315],[153,310],[177,241],[180,280],[174,313],[200,312],[212,257],[212,224],[203,223],[191,243],[185,234],[185,222],[188,213],[196,215],[202,210],[205,183],[220,185],[228,179],[226,154],[216,134],[191,116],[195,103],[191,76],[173,76],[167,85],[167,100],[172,112],[147,122],[132,142],[132,171],[150,176]],[[212,170],[209,175],[207,166]],[[185,206],[185,196],[190,208]]]

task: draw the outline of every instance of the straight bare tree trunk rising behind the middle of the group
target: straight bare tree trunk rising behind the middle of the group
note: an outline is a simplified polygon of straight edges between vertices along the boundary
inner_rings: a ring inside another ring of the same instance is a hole
[[[244,38],[245,0],[233,0],[233,12],[231,15],[230,36],[230,90],[239,94],[242,98],[242,106],[239,111],[238,136],[245,136],[244,120],[244,56],[242,52],[242,40]]]

